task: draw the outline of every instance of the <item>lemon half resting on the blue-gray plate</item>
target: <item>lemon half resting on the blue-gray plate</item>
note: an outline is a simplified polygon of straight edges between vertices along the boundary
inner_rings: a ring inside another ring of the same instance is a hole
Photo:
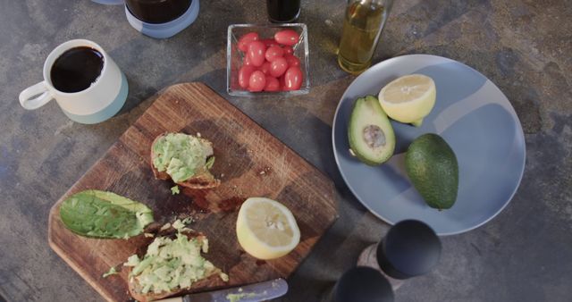
[[[378,98],[391,119],[420,126],[433,109],[436,96],[433,79],[423,74],[410,74],[385,85]]]

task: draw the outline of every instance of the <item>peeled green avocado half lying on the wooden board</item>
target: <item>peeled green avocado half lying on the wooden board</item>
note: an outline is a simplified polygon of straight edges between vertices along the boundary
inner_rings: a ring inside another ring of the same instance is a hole
[[[89,189],[63,200],[60,218],[66,228],[81,236],[127,239],[153,222],[153,212],[129,198]]]

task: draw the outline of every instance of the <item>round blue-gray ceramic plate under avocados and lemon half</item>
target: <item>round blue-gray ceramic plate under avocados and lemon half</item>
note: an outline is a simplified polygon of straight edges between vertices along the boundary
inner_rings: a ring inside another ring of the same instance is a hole
[[[377,96],[400,76],[422,73],[437,87],[433,111],[416,128],[391,122],[397,145],[390,161],[376,167],[349,155],[348,121],[354,100]],[[457,155],[458,198],[448,210],[425,205],[405,172],[404,155],[413,139],[440,134]],[[341,96],[332,129],[333,153],[349,189],[388,223],[421,220],[439,235],[470,231],[509,204],[525,169],[525,138],[517,114],[499,88],[478,71],[435,55],[395,57],[362,73]]]

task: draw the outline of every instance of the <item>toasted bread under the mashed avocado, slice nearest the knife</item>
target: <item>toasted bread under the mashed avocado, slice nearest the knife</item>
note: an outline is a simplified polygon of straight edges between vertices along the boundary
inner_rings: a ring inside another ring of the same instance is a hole
[[[187,236],[187,238],[192,239],[198,239],[199,243],[202,245],[202,242],[204,239],[206,239],[206,237],[198,232],[193,232],[193,231],[182,231],[183,234],[185,234]],[[151,240],[149,240],[149,243],[151,242]],[[148,245],[147,245],[148,247]],[[140,250],[138,252],[138,255],[142,258],[146,252],[147,252],[147,247],[145,247],[145,250]],[[131,270],[133,269],[130,266],[127,266],[127,273],[131,273]],[[129,285],[129,292],[131,297],[135,298],[138,301],[141,302],[147,302],[147,301],[154,301],[154,300],[158,300],[158,299],[162,299],[162,298],[167,298],[167,297],[171,297],[171,296],[181,296],[181,295],[185,295],[188,294],[190,292],[193,292],[193,289],[198,289],[198,288],[204,288],[207,285],[212,285],[212,284],[220,284],[220,275],[221,273],[223,273],[219,268],[214,267],[213,271],[208,273],[206,275],[206,277],[204,279],[201,279],[199,281],[196,281],[194,283],[191,284],[191,286],[189,288],[186,289],[173,289],[172,291],[162,291],[160,293],[155,293],[153,291],[149,291],[147,293],[143,293],[141,292],[142,287],[140,286],[139,282],[137,281],[137,278],[134,277],[130,277],[128,280],[128,285]]]

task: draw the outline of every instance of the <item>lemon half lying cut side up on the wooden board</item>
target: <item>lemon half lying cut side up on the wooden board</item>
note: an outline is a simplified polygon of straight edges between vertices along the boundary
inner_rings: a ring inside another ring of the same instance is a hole
[[[240,206],[236,235],[240,246],[258,259],[284,256],[300,240],[298,224],[290,210],[265,197],[250,197]]]

